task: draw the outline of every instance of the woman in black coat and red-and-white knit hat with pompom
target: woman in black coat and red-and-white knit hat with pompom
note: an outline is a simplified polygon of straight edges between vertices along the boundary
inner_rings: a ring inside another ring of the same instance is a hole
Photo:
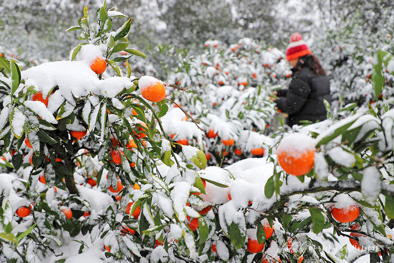
[[[291,35],[286,59],[293,66],[292,80],[288,89],[274,92],[278,109],[289,114],[290,127],[303,120],[315,123],[327,118],[323,100],[331,103],[330,81],[326,70],[311,53],[299,33]]]

